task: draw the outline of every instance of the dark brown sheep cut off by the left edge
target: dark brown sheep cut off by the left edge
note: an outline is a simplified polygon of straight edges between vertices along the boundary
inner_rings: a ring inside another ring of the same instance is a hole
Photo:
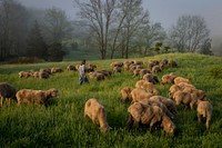
[[[3,102],[6,99],[9,99],[9,106],[10,106],[10,99],[16,99],[17,90],[13,86],[11,86],[8,82],[0,82],[0,107],[3,106]]]

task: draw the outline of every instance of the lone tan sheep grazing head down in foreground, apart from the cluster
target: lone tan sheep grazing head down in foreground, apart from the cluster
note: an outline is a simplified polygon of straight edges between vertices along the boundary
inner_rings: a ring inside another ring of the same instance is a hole
[[[94,98],[90,98],[84,103],[84,118],[87,117],[89,117],[93,124],[99,125],[102,132],[108,132],[111,129],[107,121],[104,107]]]

